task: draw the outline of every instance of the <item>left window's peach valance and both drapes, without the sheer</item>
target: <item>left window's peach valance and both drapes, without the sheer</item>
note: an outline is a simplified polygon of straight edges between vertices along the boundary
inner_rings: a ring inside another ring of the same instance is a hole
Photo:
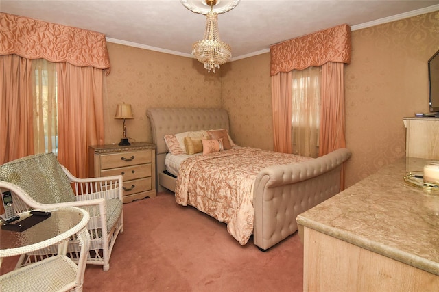
[[[32,99],[27,99],[32,72],[26,70],[32,60],[47,59],[57,63],[58,160],[73,175],[87,177],[88,145],[104,142],[103,79],[110,72],[104,34],[5,13],[0,27],[1,57],[20,56],[27,64],[1,68],[0,163],[34,153]]]

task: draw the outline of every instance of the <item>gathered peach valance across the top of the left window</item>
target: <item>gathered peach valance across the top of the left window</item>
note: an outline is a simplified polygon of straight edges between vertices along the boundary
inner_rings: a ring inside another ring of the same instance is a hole
[[[0,13],[0,55],[110,69],[104,34]]]

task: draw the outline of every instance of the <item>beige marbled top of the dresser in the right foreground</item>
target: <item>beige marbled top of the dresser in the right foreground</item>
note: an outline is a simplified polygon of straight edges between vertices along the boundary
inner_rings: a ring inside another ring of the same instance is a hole
[[[407,157],[298,215],[297,222],[439,276],[439,191],[405,183],[431,159]]]

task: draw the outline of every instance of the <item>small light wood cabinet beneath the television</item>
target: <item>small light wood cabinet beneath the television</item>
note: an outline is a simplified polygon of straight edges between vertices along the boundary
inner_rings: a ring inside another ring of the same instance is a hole
[[[439,159],[439,118],[404,118],[405,156]]]

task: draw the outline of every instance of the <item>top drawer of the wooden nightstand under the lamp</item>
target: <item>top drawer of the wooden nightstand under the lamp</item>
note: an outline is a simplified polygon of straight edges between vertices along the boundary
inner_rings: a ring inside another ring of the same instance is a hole
[[[151,151],[132,151],[101,155],[101,170],[151,163]]]

